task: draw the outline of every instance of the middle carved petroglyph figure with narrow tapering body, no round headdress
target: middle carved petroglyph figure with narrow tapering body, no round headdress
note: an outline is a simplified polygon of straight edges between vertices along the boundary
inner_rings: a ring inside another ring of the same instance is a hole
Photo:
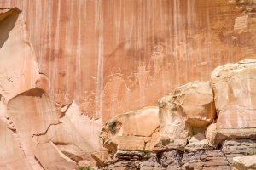
[[[149,70],[146,71],[146,66],[139,66],[138,72],[134,73],[135,77],[137,78],[137,81],[139,82],[140,87],[140,105],[144,105],[145,100],[145,87],[146,83],[149,77]]]

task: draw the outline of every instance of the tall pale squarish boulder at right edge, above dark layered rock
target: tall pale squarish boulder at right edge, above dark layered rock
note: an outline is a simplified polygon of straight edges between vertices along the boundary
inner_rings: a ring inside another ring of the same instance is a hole
[[[253,138],[256,127],[256,60],[217,67],[212,87],[218,112],[216,143],[225,138]]]

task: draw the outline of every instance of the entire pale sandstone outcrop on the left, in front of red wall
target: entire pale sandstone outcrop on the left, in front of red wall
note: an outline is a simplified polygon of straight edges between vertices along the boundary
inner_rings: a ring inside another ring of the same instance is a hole
[[[50,82],[38,72],[20,13],[0,9],[0,169],[94,166],[102,120],[84,115],[74,101],[61,108],[46,92]]]

